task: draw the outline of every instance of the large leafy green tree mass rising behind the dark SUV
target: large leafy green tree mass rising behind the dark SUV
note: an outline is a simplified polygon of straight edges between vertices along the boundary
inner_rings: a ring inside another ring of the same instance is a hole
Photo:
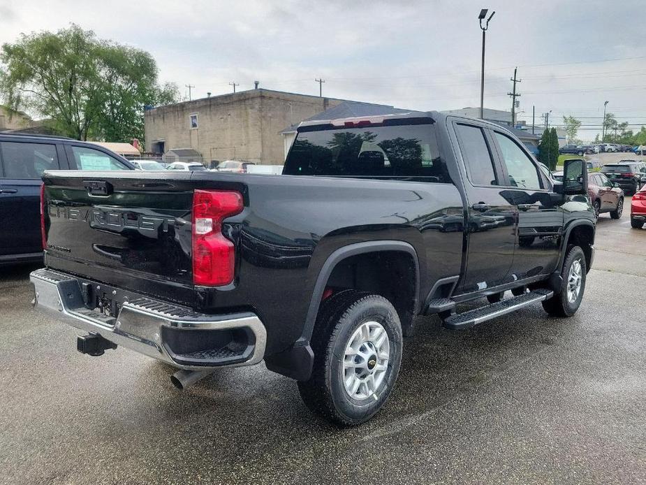
[[[143,138],[146,105],[177,97],[156,84],[157,66],[145,51],[101,41],[72,24],[22,34],[0,50],[0,95],[15,109],[52,120],[79,140]]]

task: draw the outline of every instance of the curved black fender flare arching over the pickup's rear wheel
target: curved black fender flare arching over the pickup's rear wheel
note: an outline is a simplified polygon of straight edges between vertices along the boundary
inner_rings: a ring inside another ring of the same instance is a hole
[[[298,343],[296,345],[299,345],[299,343],[300,345],[309,344],[309,339],[311,338],[311,334],[314,331],[314,325],[316,324],[318,308],[321,306],[321,298],[323,298],[325,284],[327,284],[328,279],[332,274],[332,270],[334,270],[337,264],[344,259],[347,259],[351,256],[356,256],[357,254],[384,251],[405,252],[412,256],[413,263],[415,264],[415,294],[413,310],[414,312],[418,313],[420,294],[420,263],[417,252],[412,245],[398,240],[375,240],[342,246],[332,252],[330,256],[328,256],[328,259],[325,260],[325,263],[323,263],[321,270],[318,272],[318,277],[316,277],[316,283],[314,284],[314,290],[311,293],[311,299],[309,301],[309,307],[307,309],[307,316],[305,317],[302,335],[298,339]]]

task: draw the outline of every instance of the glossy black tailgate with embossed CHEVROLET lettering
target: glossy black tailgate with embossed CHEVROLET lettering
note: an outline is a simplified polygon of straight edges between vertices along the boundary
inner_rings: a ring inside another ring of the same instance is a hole
[[[47,266],[192,303],[191,176],[45,173]]]

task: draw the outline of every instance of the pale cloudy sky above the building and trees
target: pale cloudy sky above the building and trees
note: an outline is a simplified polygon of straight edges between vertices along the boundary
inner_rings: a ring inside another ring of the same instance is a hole
[[[254,80],[318,94],[323,78],[325,96],[446,110],[479,106],[483,7],[496,10],[486,107],[511,108],[518,66],[521,120],[532,106],[537,124],[574,115],[591,139],[609,101],[620,121],[646,124],[643,0],[0,0],[0,43],[75,22],[152,52],[160,80],[194,85],[193,99]]]

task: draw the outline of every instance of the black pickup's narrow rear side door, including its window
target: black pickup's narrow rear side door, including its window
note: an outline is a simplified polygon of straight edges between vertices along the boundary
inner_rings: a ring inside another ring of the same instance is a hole
[[[509,281],[517,208],[501,194],[501,169],[489,130],[470,122],[453,126],[466,168],[468,198],[467,268],[458,291],[471,293]]]

